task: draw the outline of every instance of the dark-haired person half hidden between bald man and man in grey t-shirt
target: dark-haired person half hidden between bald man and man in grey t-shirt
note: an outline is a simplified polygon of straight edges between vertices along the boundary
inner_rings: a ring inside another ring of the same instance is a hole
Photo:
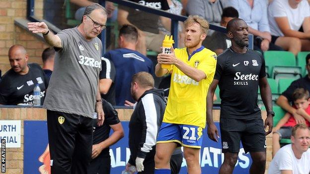
[[[45,73],[46,80],[49,82],[53,69],[54,69],[54,58],[55,58],[55,50],[54,48],[46,48],[42,53],[42,61],[43,61],[43,71]]]

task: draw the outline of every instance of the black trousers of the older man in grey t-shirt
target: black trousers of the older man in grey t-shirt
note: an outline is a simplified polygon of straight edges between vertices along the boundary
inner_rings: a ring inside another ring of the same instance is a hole
[[[51,174],[87,174],[92,118],[47,110]]]

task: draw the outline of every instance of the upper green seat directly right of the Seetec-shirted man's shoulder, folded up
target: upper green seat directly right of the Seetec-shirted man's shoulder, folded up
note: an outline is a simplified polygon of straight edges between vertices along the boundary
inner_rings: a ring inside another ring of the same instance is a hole
[[[295,78],[302,76],[302,68],[296,66],[295,56],[291,52],[266,51],[264,52],[265,62],[268,66],[270,77],[278,81],[280,78]]]

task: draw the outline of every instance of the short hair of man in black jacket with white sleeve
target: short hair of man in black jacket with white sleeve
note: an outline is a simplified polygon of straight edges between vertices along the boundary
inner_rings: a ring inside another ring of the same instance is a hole
[[[141,87],[147,88],[152,87],[154,88],[154,78],[153,76],[145,71],[141,71],[136,73],[132,78],[132,83],[137,82]]]

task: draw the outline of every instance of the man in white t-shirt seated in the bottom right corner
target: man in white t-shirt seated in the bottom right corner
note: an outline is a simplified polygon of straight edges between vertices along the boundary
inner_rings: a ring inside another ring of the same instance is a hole
[[[269,164],[268,174],[309,174],[310,130],[306,124],[292,129],[292,144],[282,147]]]

